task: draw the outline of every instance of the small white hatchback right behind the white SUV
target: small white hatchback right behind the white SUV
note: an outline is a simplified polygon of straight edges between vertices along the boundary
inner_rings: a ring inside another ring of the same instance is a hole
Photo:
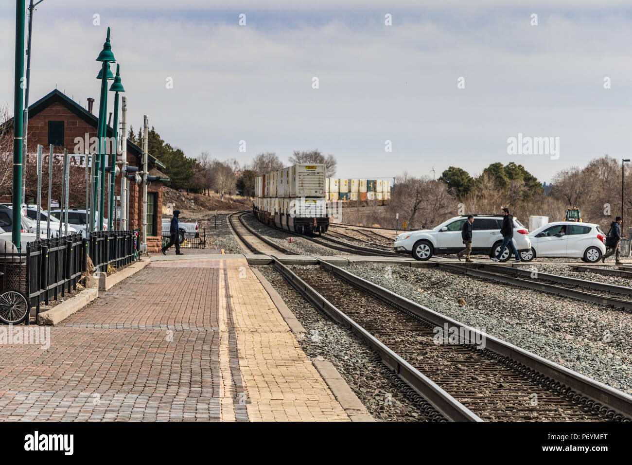
[[[560,235],[562,228],[564,234]],[[593,223],[557,221],[533,231],[529,238],[531,250],[520,251],[525,261],[535,257],[568,257],[595,263],[605,254],[605,233]]]

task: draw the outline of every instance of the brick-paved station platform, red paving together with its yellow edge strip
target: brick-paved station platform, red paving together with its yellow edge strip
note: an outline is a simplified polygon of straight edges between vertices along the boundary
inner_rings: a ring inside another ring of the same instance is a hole
[[[245,258],[151,263],[0,345],[0,419],[348,420]]]

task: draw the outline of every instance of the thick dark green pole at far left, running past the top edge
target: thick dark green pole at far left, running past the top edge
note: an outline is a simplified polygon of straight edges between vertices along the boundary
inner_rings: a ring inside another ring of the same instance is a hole
[[[25,0],[15,2],[15,89],[13,93],[13,225],[11,241],[21,252],[21,199],[22,199],[22,137],[24,110],[24,15]]]

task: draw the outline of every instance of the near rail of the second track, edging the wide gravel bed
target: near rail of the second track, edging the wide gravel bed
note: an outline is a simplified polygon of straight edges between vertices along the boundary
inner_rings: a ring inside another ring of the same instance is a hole
[[[448,263],[437,263],[437,266],[442,270],[453,271],[455,273],[462,273],[463,275],[471,275],[477,278],[483,278],[486,280],[492,280],[501,282],[504,284],[509,284],[513,286],[525,287],[528,289],[539,290],[542,292],[547,292],[549,294],[562,295],[564,297],[570,297],[571,299],[576,299],[583,302],[589,302],[591,304],[599,304],[606,306],[613,306],[615,308],[623,308],[626,310],[632,310],[632,301],[626,301],[624,299],[617,299],[616,297],[607,297],[605,295],[592,294],[592,292],[585,292],[583,290],[571,289],[568,287],[557,286],[554,284],[547,284],[537,282],[535,279],[522,279],[516,276],[507,276],[498,273],[494,273],[492,271],[484,271],[478,270],[477,268],[466,268],[465,266],[459,266],[458,264],[448,264]],[[489,265],[487,265],[489,266]],[[509,267],[501,267],[506,268]],[[527,272],[530,275],[531,272]],[[544,275],[544,273],[542,273]],[[540,273],[538,273],[540,276]],[[557,275],[551,275],[557,276]],[[569,278],[574,279],[574,278]],[[581,280],[580,280],[581,281]],[[592,282],[593,283],[593,282]],[[608,291],[611,292],[611,291]],[[614,291],[612,291],[614,292]]]

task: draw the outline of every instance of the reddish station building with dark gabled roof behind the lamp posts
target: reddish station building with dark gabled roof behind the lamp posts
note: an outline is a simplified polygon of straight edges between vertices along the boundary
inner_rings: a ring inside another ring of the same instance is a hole
[[[93,99],[88,99],[88,108],[83,108],[57,89],[52,90],[42,99],[33,103],[28,107],[29,151],[32,151],[31,147],[41,144],[44,146],[44,154],[46,155],[49,152],[49,144],[52,144],[55,154],[63,154],[64,149],[68,149],[68,154],[70,155],[75,152],[76,137],[80,137],[84,141],[86,133],[88,134],[88,140],[90,140],[90,137],[97,137],[99,118],[92,113],[93,103]],[[112,135],[112,127],[108,125],[107,137],[112,137]],[[120,130],[118,137],[121,137]],[[80,156],[78,158],[80,158],[78,163],[85,166],[85,158]],[[142,170],[142,161],[142,149],[128,139],[127,163],[131,166],[138,166],[139,170]],[[29,154],[28,162],[33,167],[35,166],[33,154]],[[149,252],[158,252],[162,240],[162,183],[168,181],[169,178],[160,171],[161,168],[165,168],[164,164],[152,157],[151,154],[147,157],[147,162],[149,174],[160,177],[159,181],[154,181],[147,187],[147,248]],[[109,161],[107,164],[109,164]],[[106,179],[107,176],[109,175],[106,173]],[[83,186],[85,189],[85,183],[83,183]],[[46,189],[42,188],[42,190],[45,191]],[[114,190],[114,195],[120,195],[121,175],[114,182]],[[129,229],[142,229],[142,208],[142,184],[139,186],[135,182],[130,182]],[[105,213],[107,215],[107,211]]]

